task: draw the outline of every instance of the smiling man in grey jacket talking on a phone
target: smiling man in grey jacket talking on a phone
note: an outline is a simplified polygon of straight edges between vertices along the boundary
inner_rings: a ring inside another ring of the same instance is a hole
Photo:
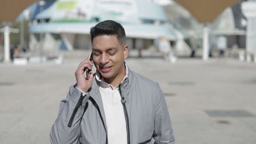
[[[124,28],[103,21],[91,28],[92,57],[75,71],[77,83],[61,101],[51,143],[174,143],[166,101],[158,83],[129,69]]]

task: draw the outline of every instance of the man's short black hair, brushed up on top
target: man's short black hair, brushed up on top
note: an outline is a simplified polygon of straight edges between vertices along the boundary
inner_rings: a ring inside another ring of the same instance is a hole
[[[126,44],[126,35],[123,26],[115,21],[106,20],[98,23],[90,30],[91,43],[98,35],[114,35],[121,45]]]

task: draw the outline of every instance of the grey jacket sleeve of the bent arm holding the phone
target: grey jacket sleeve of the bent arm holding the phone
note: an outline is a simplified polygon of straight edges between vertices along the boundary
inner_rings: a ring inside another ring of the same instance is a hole
[[[80,143],[80,121],[89,95],[83,96],[76,85],[61,100],[59,114],[50,131],[51,143]]]

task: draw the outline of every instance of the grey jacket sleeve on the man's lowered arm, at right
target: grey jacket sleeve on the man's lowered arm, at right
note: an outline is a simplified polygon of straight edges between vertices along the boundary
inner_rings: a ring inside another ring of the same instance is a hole
[[[161,91],[160,86],[156,86],[156,95],[158,99],[156,100],[156,109],[155,109],[155,119],[154,119],[154,134],[153,138],[155,144],[158,143],[168,143],[174,144],[174,136],[172,130],[172,124],[170,115],[168,112],[168,107],[165,101],[164,94]]]

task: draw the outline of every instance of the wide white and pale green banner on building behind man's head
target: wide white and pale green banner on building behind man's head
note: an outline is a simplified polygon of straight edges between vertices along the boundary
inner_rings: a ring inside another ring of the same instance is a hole
[[[137,5],[133,0],[58,0],[52,22],[90,22],[114,20],[138,22]]]

